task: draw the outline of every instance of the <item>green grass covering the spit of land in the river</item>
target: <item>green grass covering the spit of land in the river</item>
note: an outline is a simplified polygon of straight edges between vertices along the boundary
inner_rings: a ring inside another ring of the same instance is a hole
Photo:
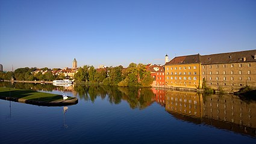
[[[21,98],[23,100],[39,101],[39,102],[53,102],[63,100],[62,95],[48,94],[45,92],[37,92],[24,89],[14,89],[14,88],[0,88],[0,97],[10,97],[10,98]],[[71,100],[73,97],[69,97]]]

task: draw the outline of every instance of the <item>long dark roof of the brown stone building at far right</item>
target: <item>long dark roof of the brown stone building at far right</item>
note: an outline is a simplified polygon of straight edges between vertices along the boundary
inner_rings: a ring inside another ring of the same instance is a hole
[[[218,53],[201,56],[202,64],[224,64],[234,62],[256,62],[254,58],[256,50],[246,50],[241,52]]]

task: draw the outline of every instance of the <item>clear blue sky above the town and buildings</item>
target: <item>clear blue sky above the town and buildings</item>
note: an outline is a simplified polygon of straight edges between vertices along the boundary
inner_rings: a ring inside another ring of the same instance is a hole
[[[0,0],[0,64],[164,64],[256,49],[255,0]]]

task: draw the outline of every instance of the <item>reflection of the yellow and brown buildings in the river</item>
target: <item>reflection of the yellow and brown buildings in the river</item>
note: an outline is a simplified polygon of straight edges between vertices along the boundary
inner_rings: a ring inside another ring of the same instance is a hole
[[[166,91],[166,110],[175,118],[256,136],[256,103],[236,95]]]

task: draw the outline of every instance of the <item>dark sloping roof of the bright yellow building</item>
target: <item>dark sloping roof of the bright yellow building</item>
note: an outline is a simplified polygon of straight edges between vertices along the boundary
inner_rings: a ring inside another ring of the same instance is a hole
[[[193,64],[200,62],[200,56],[197,55],[189,55],[189,56],[177,56],[173,58],[171,61],[166,62],[165,65],[175,65],[175,64]]]

